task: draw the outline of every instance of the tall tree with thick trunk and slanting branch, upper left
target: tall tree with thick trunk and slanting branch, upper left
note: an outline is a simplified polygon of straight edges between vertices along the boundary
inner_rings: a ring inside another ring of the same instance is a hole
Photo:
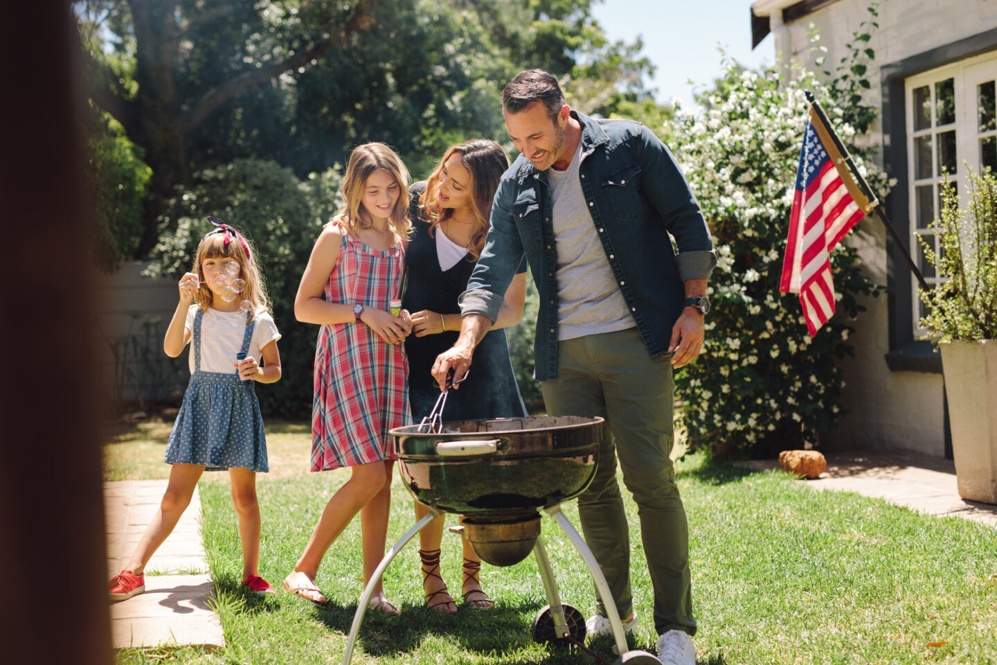
[[[311,65],[370,29],[378,0],[88,0],[80,10],[93,102],[152,166],[139,253],[157,239],[157,213],[188,181],[191,135],[219,107]],[[102,30],[117,37],[105,57]]]

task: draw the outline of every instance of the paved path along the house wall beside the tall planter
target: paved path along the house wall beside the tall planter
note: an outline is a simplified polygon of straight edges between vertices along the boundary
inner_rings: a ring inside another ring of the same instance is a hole
[[[954,515],[997,526],[997,505],[959,497],[955,466],[949,460],[910,453],[826,454],[828,471],[807,481],[816,490],[854,492],[886,499],[919,512]],[[778,460],[747,463],[754,469],[779,469]]]

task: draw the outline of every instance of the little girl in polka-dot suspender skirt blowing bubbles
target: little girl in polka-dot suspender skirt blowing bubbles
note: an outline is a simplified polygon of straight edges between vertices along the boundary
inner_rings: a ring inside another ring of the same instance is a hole
[[[190,383],[166,446],[165,462],[172,465],[169,484],[128,567],[111,580],[113,600],[146,590],[146,564],[173,530],[205,469],[228,470],[242,542],[242,585],[257,594],[273,592],[256,569],[256,472],[269,471],[269,466],[254,387],[280,378],[280,334],[255,253],[234,228],[208,219],[218,228],[201,238],[192,271],[180,277],[179,304],[163,342],[171,358],[191,342]],[[236,360],[240,353],[246,354],[241,361]]]

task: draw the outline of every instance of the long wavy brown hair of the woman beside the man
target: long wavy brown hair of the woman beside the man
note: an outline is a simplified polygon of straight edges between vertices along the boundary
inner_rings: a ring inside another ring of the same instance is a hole
[[[444,153],[439,166],[426,179],[426,192],[419,202],[420,210],[430,222],[430,235],[433,235],[441,221],[454,214],[453,208],[445,208],[440,204],[440,173],[454,155],[459,155],[461,164],[471,172],[471,182],[467,186],[471,189],[475,230],[471,234],[468,251],[477,261],[485,248],[485,235],[489,231],[489,217],[492,216],[492,199],[495,198],[501,174],[508,168],[508,157],[501,146],[488,139],[475,139],[466,144],[451,146]]]

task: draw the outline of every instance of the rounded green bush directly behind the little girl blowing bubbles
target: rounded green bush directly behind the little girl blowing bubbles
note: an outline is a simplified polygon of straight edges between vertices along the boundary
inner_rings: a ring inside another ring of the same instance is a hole
[[[236,160],[196,173],[177,190],[161,220],[153,251],[153,277],[178,279],[190,268],[200,237],[213,215],[253,240],[273,301],[282,377],[258,392],[264,415],[311,415],[312,366],[318,326],[294,318],[294,296],[322,224],[340,205],[341,176],[330,168],[298,179],[273,162]]]

